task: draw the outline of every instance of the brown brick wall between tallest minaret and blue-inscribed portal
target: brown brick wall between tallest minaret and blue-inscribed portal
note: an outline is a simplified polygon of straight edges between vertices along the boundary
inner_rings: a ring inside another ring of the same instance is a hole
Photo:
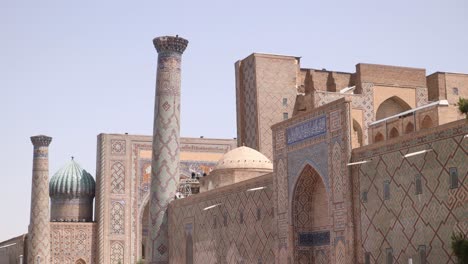
[[[274,263],[272,180],[268,174],[173,201],[171,263]],[[266,188],[249,191],[256,187]]]

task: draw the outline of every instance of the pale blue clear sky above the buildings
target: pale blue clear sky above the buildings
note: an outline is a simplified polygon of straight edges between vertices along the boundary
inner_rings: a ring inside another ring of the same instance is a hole
[[[53,137],[51,177],[71,156],[95,175],[100,133],[152,133],[154,37],[189,40],[181,135],[233,138],[237,60],[468,73],[467,14],[466,0],[0,0],[0,241],[27,232],[30,136]]]

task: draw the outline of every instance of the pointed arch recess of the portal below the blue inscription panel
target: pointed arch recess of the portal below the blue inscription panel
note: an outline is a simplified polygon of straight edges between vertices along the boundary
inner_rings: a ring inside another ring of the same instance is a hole
[[[329,263],[330,213],[322,178],[311,166],[299,176],[293,193],[294,263]]]

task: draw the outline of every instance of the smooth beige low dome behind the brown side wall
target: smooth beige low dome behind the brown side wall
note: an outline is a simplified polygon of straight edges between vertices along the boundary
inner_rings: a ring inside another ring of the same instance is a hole
[[[273,163],[262,153],[248,147],[238,147],[218,161],[214,170],[221,169],[263,169],[273,170]]]

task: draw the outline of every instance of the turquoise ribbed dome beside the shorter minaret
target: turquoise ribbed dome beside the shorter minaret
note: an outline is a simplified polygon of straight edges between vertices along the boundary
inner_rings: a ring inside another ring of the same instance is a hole
[[[50,179],[50,197],[94,198],[96,182],[93,176],[73,159]]]

